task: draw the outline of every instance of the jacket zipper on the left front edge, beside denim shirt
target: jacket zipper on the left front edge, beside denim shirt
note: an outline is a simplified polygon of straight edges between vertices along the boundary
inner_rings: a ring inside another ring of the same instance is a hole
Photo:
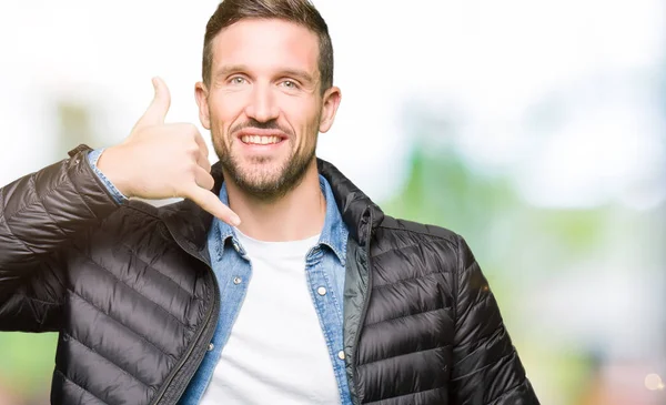
[[[169,232],[171,233],[171,231],[169,231]],[[173,234],[171,236],[173,237]],[[211,310],[205,315],[205,322],[204,322],[203,327],[196,334],[196,338],[194,338],[194,343],[188,348],[188,352],[185,353],[185,355],[181,357],[178,365],[171,372],[171,374],[169,375],[169,377],[167,378],[164,384],[162,384],[162,387],[158,392],[158,395],[153,398],[153,401],[151,401],[151,405],[158,405],[158,404],[165,405],[165,404],[170,404],[170,403],[175,404],[178,402],[178,399],[182,395],[184,388],[186,387],[186,383],[183,384],[182,382],[179,382],[179,385],[176,386],[178,395],[176,395],[175,402],[170,402],[169,401],[170,398],[164,398],[164,395],[165,395],[167,391],[169,389],[169,387],[173,384],[173,381],[175,379],[175,376],[178,375],[178,373],[188,365],[188,361],[190,361],[192,352],[194,352],[194,350],[201,345],[201,342],[209,342],[212,338],[212,336],[215,332],[215,328],[210,327],[211,318],[220,312],[220,286],[218,285],[218,279],[215,277],[215,274],[213,273],[212,267],[204,260],[199,257],[199,255],[192,253],[188,247],[183,246],[176,237],[173,237],[173,239],[174,239],[175,243],[178,243],[178,245],[181,246],[181,249],[183,251],[185,251],[188,254],[190,254],[191,256],[195,257],[196,260],[199,260],[200,262],[205,264],[209,272],[211,272],[211,274],[213,276],[214,301],[213,301],[213,305],[211,305]],[[201,336],[204,335],[204,333],[206,334],[206,340],[202,341]],[[208,335],[210,335],[210,336],[208,336]],[[204,356],[205,356],[205,354],[204,354]],[[201,360],[195,362],[196,367],[199,367],[199,365],[201,364],[201,361],[203,361],[203,356],[201,357]],[[182,378],[182,379],[189,382],[190,378]],[[162,402],[162,399],[164,399],[164,402]]]

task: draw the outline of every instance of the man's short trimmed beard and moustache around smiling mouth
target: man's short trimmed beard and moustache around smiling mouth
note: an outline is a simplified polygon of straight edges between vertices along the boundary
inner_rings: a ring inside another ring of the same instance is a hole
[[[253,156],[243,164],[238,156],[233,155],[231,149],[233,142],[242,142],[233,134],[245,128],[273,129],[289,134],[286,141],[291,146],[289,156],[278,166],[274,163],[272,164],[272,158],[265,156]],[[226,179],[233,181],[243,192],[265,202],[279,200],[295,189],[315,159],[316,140],[312,143],[312,146],[299,150],[294,148],[295,136],[293,136],[293,133],[279,126],[275,121],[259,122],[250,120],[244,124],[232,128],[226,135],[219,135],[214,132],[212,135],[213,146]],[[304,135],[307,136],[307,134]],[[225,139],[229,140],[229,143],[225,142]]]

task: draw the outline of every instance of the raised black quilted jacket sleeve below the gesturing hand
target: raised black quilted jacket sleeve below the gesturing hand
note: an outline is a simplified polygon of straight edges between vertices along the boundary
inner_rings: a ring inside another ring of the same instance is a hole
[[[58,328],[62,247],[118,204],[85,159],[89,149],[0,189],[0,331]]]

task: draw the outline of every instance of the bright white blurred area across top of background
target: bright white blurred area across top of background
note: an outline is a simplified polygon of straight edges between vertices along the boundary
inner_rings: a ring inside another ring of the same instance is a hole
[[[442,138],[478,170],[511,173],[535,204],[645,207],[664,199],[662,1],[315,4],[343,92],[319,154],[372,198],[389,198],[405,178],[411,140],[402,114],[418,102],[435,117],[453,107],[455,133]],[[199,124],[193,83],[215,6],[2,2],[0,184],[50,163],[54,99],[97,104],[95,129],[111,144],[148,105],[150,78],[161,75],[172,93],[168,120]],[[539,109],[555,117],[552,128],[538,123]]]

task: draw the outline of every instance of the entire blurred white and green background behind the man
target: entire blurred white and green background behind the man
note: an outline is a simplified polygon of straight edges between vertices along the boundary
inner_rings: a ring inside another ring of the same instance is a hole
[[[666,404],[666,3],[314,2],[343,93],[319,155],[465,236],[542,404]],[[153,75],[199,125],[216,3],[3,1],[0,184],[120,142]],[[54,343],[0,334],[0,405],[49,403]]]

